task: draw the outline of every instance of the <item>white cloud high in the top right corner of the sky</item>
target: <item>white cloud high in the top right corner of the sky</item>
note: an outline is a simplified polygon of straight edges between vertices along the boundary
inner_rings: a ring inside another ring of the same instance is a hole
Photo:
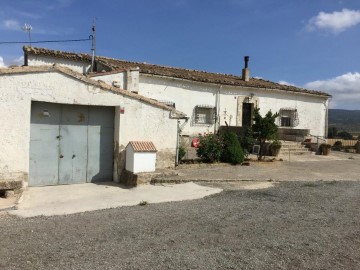
[[[317,16],[308,21],[307,29],[330,30],[334,33],[340,33],[346,29],[360,23],[360,10],[343,9],[333,13],[321,11]]]

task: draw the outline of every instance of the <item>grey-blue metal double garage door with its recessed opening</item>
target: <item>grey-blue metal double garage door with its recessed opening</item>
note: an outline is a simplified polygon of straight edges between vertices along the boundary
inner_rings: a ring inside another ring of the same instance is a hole
[[[30,186],[112,180],[114,107],[33,102]]]

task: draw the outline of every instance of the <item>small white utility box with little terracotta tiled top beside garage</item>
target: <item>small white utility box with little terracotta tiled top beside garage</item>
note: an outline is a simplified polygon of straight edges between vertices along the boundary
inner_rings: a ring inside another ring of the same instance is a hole
[[[130,141],[126,146],[126,170],[133,173],[154,172],[156,152],[153,142]]]

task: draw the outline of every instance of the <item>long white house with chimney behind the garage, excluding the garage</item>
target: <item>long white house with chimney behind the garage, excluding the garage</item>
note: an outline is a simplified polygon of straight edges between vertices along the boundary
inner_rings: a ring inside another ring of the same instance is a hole
[[[282,139],[327,136],[328,100],[325,92],[281,85],[250,78],[249,57],[245,57],[242,76],[165,67],[140,62],[91,57],[42,48],[24,47],[25,65],[67,66],[86,73],[94,80],[126,89],[184,112],[189,121],[182,135],[216,132],[220,126],[251,125],[254,107],[260,113],[278,112]]]

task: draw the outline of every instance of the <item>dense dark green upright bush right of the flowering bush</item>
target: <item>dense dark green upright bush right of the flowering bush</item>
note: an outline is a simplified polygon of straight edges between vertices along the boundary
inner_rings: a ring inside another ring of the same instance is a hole
[[[235,132],[228,131],[223,134],[224,150],[221,156],[223,162],[233,165],[244,161],[244,151],[241,148],[238,137]]]

